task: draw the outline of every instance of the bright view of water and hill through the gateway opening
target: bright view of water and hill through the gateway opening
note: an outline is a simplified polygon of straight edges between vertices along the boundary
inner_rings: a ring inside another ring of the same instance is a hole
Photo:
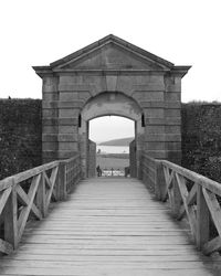
[[[129,177],[129,144],[135,121],[119,116],[90,120],[90,140],[96,142],[96,176]]]

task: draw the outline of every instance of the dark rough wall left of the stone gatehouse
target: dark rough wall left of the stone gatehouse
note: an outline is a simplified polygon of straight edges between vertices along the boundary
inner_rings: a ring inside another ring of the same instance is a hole
[[[0,179],[42,162],[40,99],[0,99]]]

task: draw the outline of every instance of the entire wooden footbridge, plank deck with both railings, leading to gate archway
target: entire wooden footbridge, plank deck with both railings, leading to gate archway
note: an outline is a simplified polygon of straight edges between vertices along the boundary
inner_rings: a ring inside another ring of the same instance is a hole
[[[145,153],[143,182],[80,163],[0,181],[0,275],[221,275],[219,183]]]

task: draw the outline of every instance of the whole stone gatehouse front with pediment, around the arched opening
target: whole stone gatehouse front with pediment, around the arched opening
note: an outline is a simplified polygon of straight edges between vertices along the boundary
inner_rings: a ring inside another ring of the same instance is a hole
[[[44,161],[81,152],[88,177],[88,124],[104,115],[135,121],[137,176],[141,150],[180,162],[181,78],[190,66],[172,63],[108,35],[50,66],[43,79]]]

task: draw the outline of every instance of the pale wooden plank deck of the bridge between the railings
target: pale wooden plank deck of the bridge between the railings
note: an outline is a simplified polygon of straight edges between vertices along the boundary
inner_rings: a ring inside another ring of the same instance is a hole
[[[86,180],[25,230],[0,275],[221,275],[187,232],[138,180]]]

